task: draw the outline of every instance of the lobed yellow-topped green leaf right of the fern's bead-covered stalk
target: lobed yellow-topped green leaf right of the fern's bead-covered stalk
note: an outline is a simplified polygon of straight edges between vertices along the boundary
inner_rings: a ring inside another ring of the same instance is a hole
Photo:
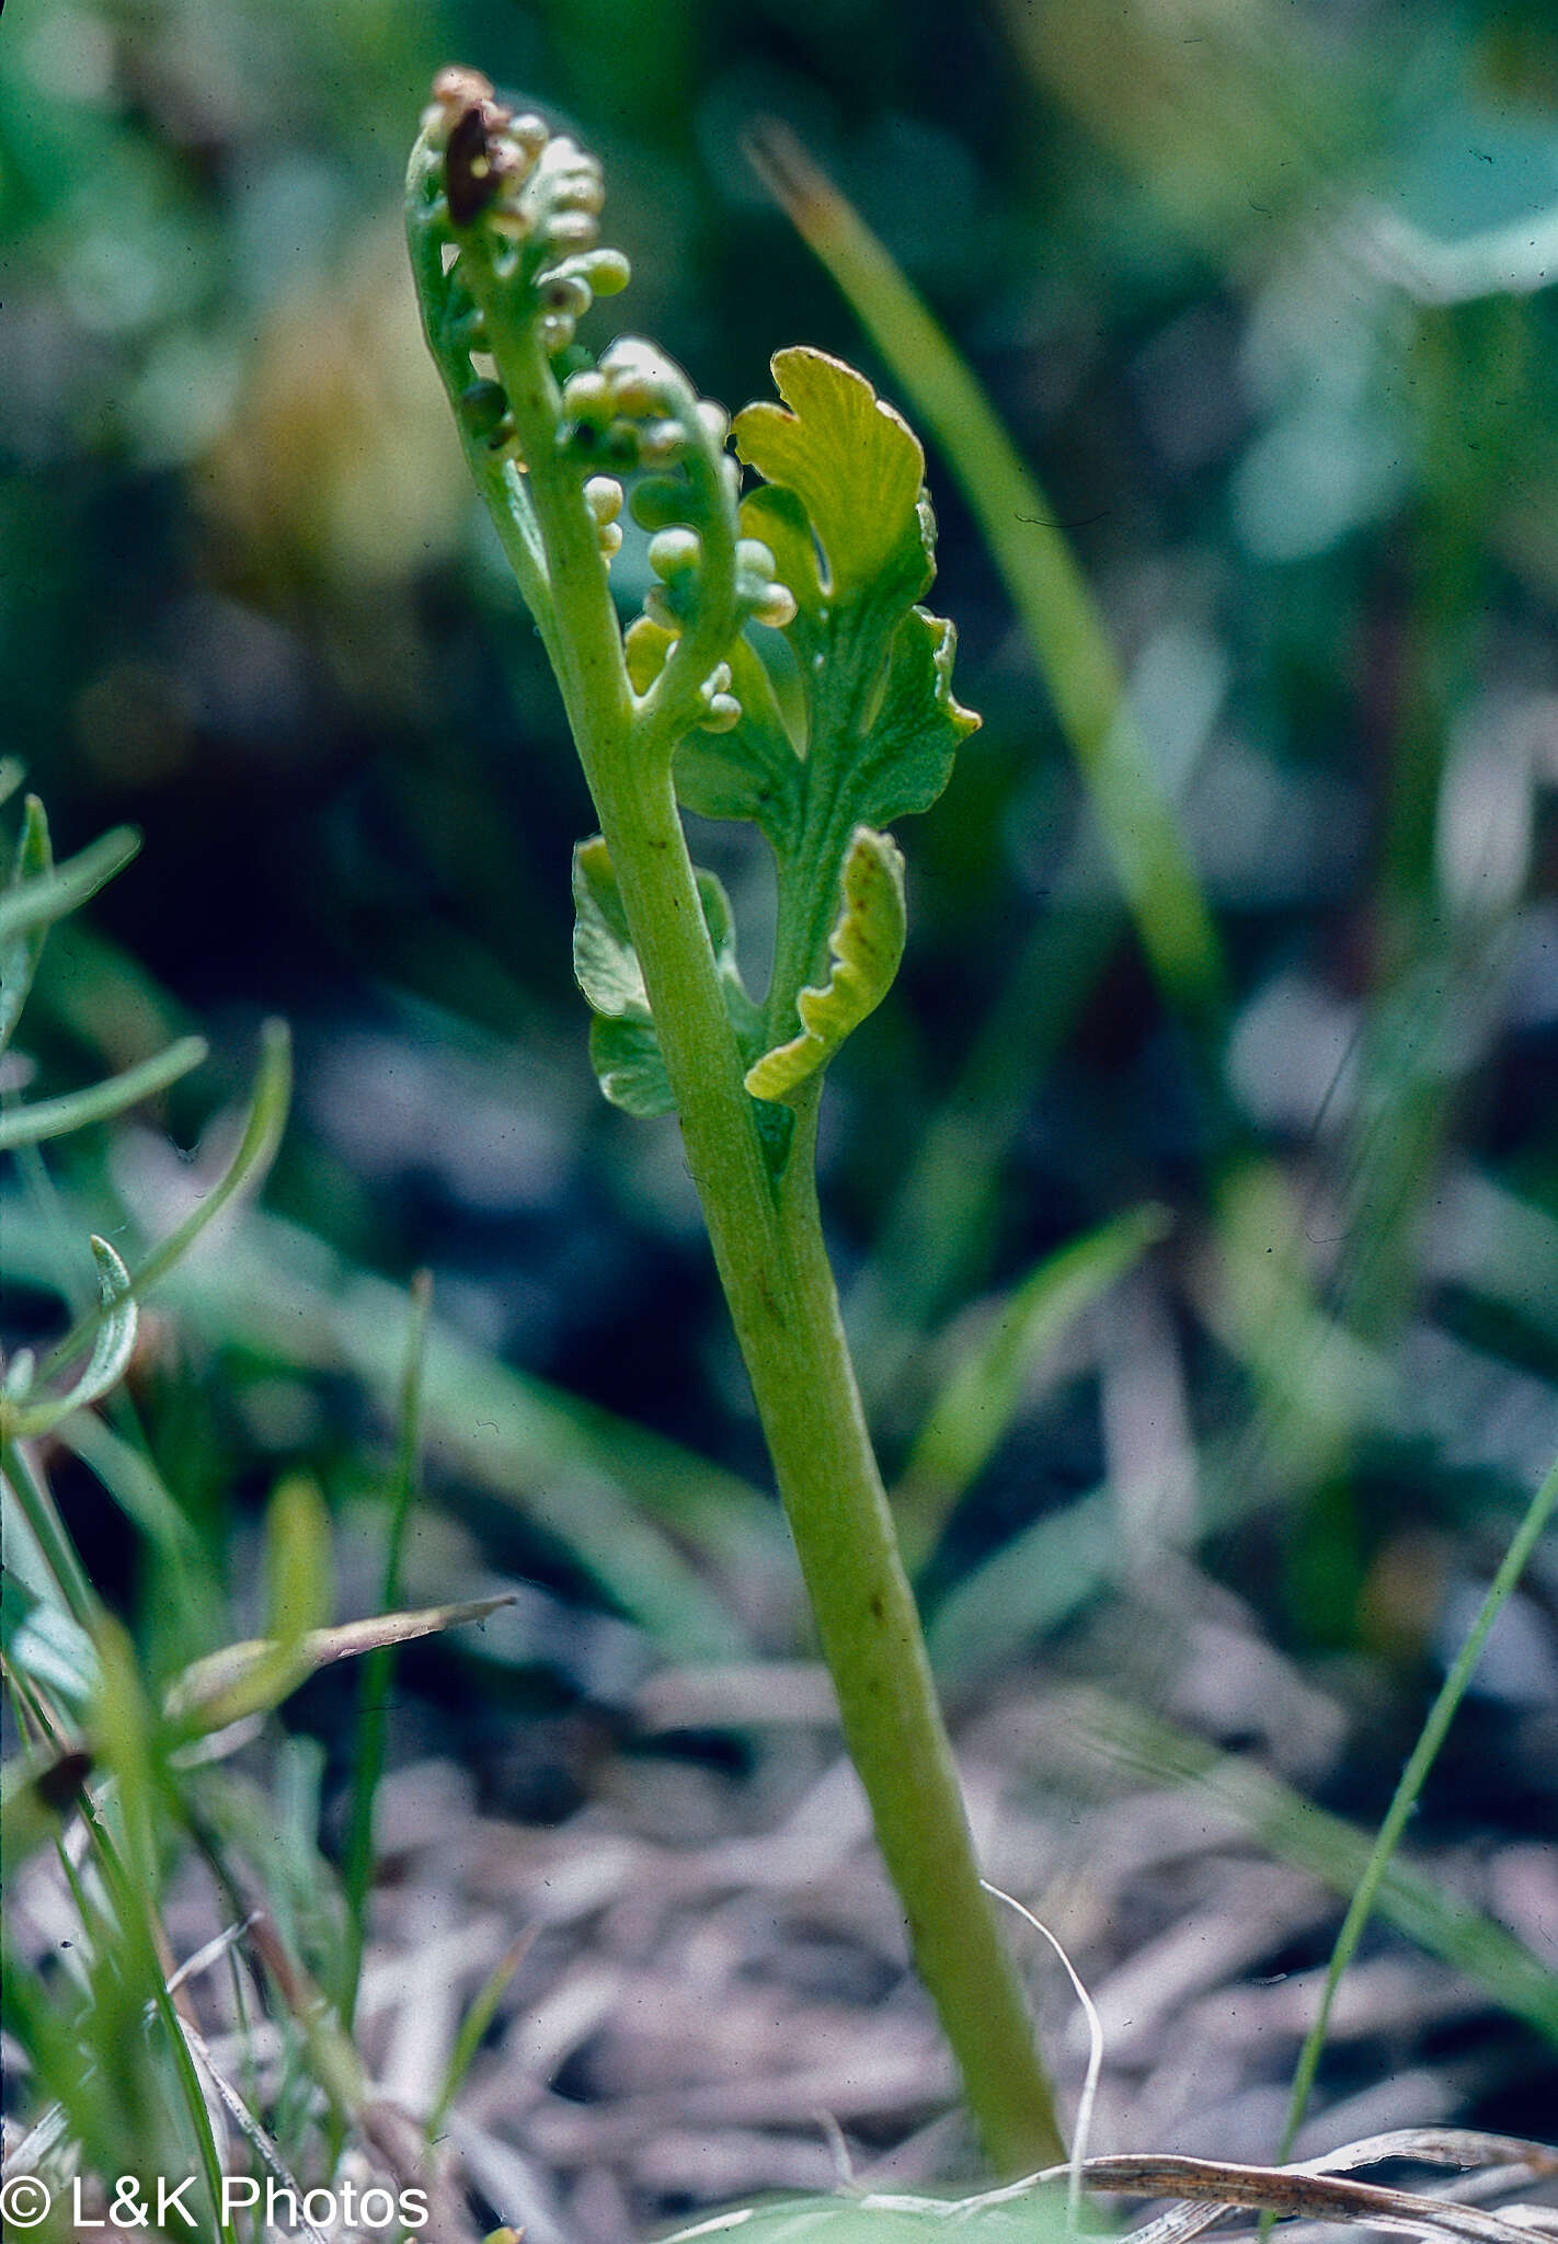
[[[952,626],[916,606],[936,545],[918,440],[864,375],[819,350],[779,352],[775,381],[783,404],[734,422],[739,456],[766,478],[741,503],[741,530],[772,554],[795,615],[739,642],[734,729],[685,743],[673,767],[689,810],[754,819],[777,857],[768,1039],[788,1041],[748,1073],[761,1100],[786,1100],[887,992],[902,893],[882,920],[891,942],[840,958],[844,853],[860,828],[927,810],[979,723],[952,693]],[[882,862],[851,880],[887,902]]]

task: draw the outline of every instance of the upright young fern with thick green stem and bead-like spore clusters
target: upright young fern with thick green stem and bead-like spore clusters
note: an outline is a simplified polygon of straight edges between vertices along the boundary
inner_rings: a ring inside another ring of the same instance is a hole
[[[629,280],[599,209],[590,155],[476,72],[438,76],[406,184],[411,265],[599,817],[572,875],[590,1057],[617,1106],[680,1122],[916,1966],[988,2154],[1024,2170],[1062,2154],[1060,2127],[979,1883],[815,1189],[824,1070],[905,947],[887,826],[941,794],[977,723],[952,693],[952,624],[918,606],[925,458],[819,350],[779,352],[779,402],[734,424],[653,343],[593,357],[577,325]],[[611,586],[624,505],[656,577],[626,628]],[[772,848],[761,999],[678,806],[750,819]]]

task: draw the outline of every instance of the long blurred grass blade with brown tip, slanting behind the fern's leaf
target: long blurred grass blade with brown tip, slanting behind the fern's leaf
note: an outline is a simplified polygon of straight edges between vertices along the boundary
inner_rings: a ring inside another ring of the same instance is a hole
[[[1215,1023],[1226,969],[1212,913],[1053,509],[963,357],[799,141],[768,123],[752,157],[963,487],[1026,626],[1154,974],[1179,1012],[1201,1028]]]

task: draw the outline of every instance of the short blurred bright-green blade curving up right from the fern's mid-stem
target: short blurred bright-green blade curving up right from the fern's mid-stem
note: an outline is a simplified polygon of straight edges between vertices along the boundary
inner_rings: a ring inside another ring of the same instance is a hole
[[[1165,1236],[1167,1225],[1167,1210],[1134,1207],[1046,1254],[1006,1295],[986,1337],[952,1367],[893,1490],[909,1569],[934,1551],[963,1495],[1006,1438],[1033,1369],[1082,1310]]]

